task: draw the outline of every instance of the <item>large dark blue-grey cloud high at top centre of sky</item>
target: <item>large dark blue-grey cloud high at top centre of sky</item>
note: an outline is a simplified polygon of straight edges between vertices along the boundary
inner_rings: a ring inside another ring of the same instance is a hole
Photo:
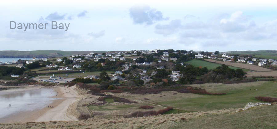
[[[157,21],[168,20],[169,18],[163,18],[161,11],[151,9],[147,5],[135,5],[129,10],[130,17],[133,18],[134,24],[146,24],[151,25]]]

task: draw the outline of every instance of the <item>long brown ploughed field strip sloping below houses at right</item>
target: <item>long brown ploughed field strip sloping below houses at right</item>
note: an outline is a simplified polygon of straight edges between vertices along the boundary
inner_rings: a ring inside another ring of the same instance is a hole
[[[218,64],[225,64],[228,66],[233,66],[233,67],[239,67],[239,68],[245,68],[245,69],[250,69],[250,70],[254,70],[254,71],[272,71],[271,69],[268,68],[263,68],[257,65],[251,65],[251,64],[243,64],[243,63],[235,63],[235,62],[223,62],[223,61],[216,61],[213,59],[204,59],[205,61],[209,61],[209,62],[215,62]]]

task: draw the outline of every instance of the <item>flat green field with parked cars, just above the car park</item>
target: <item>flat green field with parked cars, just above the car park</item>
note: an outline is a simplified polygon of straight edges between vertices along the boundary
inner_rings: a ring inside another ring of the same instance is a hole
[[[51,70],[52,72],[57,72],[58,70]],[[40,73],[47,72],[47,71],[38,71]],[[38,73],[37,72],[37,73]],[[76,72],[76,73],[57,73],[55,76],[63,76],[65,74],[68,74],[70,78],[84,78],[88,75],[99,75],[102,71],[94,71],[94,72]],[[114,71],[106,71],[108,74],[114,73]],[[73,76],[72,76],[73,75]],[[40,75],[40,76],[46,76],[46,75]],[[50,76],[50,75],[47,75]]]

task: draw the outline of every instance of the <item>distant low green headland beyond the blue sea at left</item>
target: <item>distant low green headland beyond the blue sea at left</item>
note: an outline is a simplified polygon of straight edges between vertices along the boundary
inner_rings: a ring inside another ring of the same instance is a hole
[[[58,50],[37,50],[37,51],[0,51],[0,58],[32,58],[32,57],[68,57],[77,54],[104,53],[104,51],[58,51]]]

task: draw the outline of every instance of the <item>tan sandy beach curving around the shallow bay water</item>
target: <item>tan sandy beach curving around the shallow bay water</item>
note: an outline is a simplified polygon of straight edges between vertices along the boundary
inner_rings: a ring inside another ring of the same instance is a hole
[[[38,88],[53,87],[27,86],[24,88],[10,89],[2,92],[17,92]],[[74,91],[74,88],[74,86],[55,87],[54,91],[57,95],[53,96],[55,100],[52,100],[52,103],[49,104],[50,106],[53,106],[53,108],[48,108],[48,106],[46,106],[45,108],[36,109],[34,111],[22,111],[17,114],[9,115],[8,119],[4,123],[77,120],[75,116],[67,115],[69,105],[77,101],[78,93]]]

